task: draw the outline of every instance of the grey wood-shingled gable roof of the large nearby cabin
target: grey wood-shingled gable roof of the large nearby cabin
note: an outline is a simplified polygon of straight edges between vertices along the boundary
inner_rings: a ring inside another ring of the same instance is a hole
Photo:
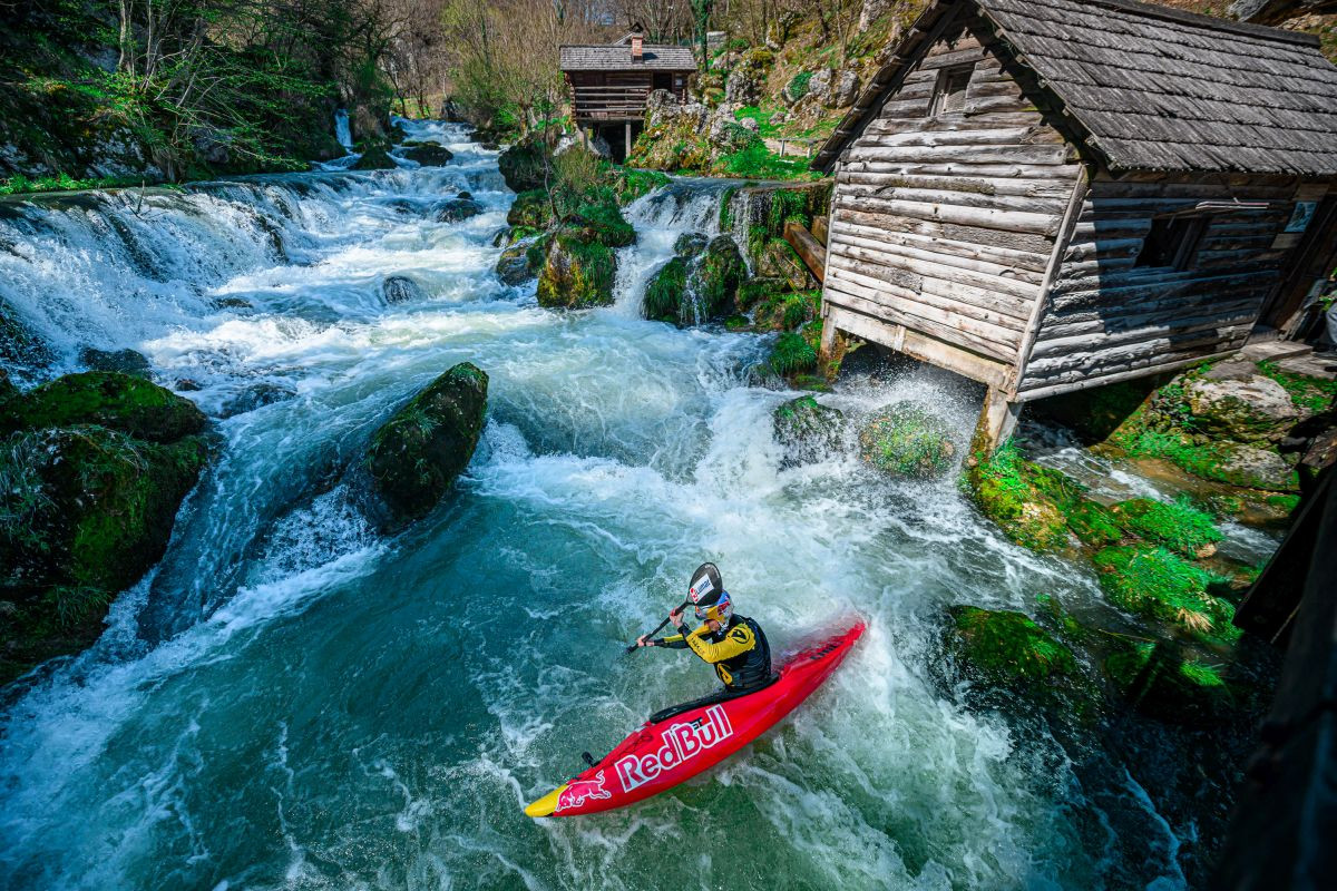
[[[1131,0],[937,0],[814,167],[830,170],[941,16],[972,5],[1111,171],[1337,175],[1337,67],[1317,37]]]

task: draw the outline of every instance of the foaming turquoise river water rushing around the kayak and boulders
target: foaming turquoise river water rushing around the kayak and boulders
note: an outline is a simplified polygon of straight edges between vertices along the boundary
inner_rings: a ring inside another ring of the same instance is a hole
[[[749,383],[767,339],[638,318],[718,183],[631,208],[616,306],[550,313],[492,274],[513,198],[496,155],[410,127],[456,162],[0,219],[0,294],[55,345],[29,379],[130,346],[198,385],[225,441],[102,640],[5,704],[0,887],[1182,884],[1191,827],[1131,777],[1095,793],[1044,733],[929,680],[944,605],[1095,604],[1092,580],[1008,545],[951,478],[890,482],[853,448],[781,472],[770,410],[794,394]],[[436,223],[457,188],[487,212]],[[392,274],[422,298],[388,306]],[[465,359],[491,375],[479,452],[448,505],[380,538],[341,469]],[[259,385],[285,398],[234,413]],[[977,405],[932,370],[824,399],[925,402],[963,441]],[[622,656],[703,560],[777,651],[854,612],[869,631],[727,764],[623,811],[525,818],[582,749],[711,689],[681,653]]]

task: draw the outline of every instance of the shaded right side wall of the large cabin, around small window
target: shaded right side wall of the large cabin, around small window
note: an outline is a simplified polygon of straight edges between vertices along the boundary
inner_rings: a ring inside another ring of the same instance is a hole
[[[1021,371],[1019,398],[1171,370],[1243,345],[1278,281],[1289,244],[1273,242],[1290,218],[1298,183],[1206,179],[1098,176],[1090,184]],[[1273,207],[1210,216],[1187,270],[1134,266],[1152,216],[1231,199]]]

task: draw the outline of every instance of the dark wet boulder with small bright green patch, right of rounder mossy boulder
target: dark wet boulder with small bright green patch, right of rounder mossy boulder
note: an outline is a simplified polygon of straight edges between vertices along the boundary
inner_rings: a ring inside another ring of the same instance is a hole
[[[1229,720],[1247,699],[1219,667],[1167,641],[1119,639],[1102,668],[1132,708],[1173,724]]]

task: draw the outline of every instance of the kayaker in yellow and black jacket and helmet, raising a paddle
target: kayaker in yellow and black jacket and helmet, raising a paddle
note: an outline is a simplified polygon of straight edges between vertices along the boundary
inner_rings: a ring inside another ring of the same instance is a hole
[[[697,618],[705,622],[701,628],[693,631],[682,612],[674,610],[668,618],[678,629],[677,635],[655,640],[642,635],[636,645],[690,649],[714,665],[725,693],[730,696],[769,684],[770,644],[766,635],[755,621],[734,613],[733,597],[725,590],[714,564],[702,564],[693,574],[687,600],[695,605]]]

